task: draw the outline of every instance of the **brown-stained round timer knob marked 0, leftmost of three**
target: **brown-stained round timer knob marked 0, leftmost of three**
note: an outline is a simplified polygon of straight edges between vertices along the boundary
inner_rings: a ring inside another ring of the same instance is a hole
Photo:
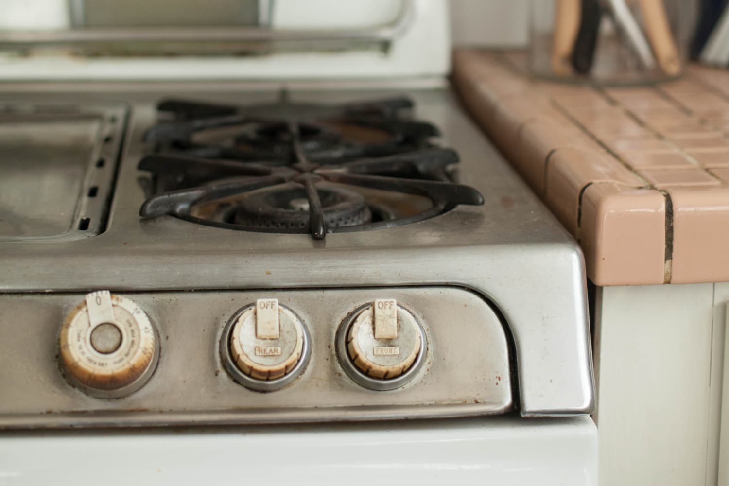
[[[144,310],[125,297],[88,294],[61,327],[61,364],[85,393],[119,398],[138,390],[157,365],[157,335]]]

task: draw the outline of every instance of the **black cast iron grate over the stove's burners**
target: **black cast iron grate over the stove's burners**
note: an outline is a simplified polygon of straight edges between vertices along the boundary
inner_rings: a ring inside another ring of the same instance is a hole
[[[432,144],[437,128],[410,119],[412,106],[408,98],[293,103],[286,93],[277,103],[246,107],[162,101],[164,121],[145,134],[155,153],[139,162],[153,174],[154,194],[139,213],[321,240],[327,232],[394,227],[483,204],[476,189],[448,176],[458,154]],[[222,141],[205,140],[221,130]],[[363,193],[373,189],[431,204],[399,215],[367,200]]]

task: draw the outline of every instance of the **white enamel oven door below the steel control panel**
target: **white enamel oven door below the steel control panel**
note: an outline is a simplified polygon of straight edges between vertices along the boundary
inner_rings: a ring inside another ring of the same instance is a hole
[[[597,484],[588,416],[6,433],[0,484]]]

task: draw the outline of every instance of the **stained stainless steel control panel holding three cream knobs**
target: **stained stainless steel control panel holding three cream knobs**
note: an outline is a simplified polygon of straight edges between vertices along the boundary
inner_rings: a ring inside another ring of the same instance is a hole
[[[0,428],[320,422],[512,408],[504,328],[465,289],[111,295],[110,302],[139,308],[159,343],[144,383],[106,394],[73,379],[78,367],[66,356],[70,338],[62,329],[71,315],[79,326],[74,339],[90,340],[79,344],[84,352],[114,361],[127,335],[120,315],[114,318],[116,304],[102,318],[87,294],[0,295]],[[106,346],[105,336],[122,341]],[[84,383],[101,386],[94,377]]]

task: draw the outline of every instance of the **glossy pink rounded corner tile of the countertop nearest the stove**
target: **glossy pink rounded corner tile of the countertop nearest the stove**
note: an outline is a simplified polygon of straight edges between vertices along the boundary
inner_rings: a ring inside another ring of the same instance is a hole
[[[579,235],[596,285],[666,281],[666,198],[657,190],[591,184],[582,195]]]

